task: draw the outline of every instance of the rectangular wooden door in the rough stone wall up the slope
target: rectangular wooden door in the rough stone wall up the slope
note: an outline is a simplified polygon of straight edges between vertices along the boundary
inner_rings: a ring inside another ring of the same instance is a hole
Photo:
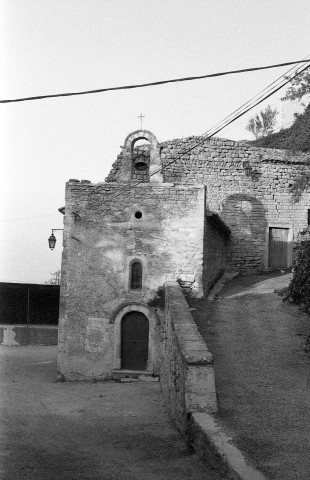
[[[269,267],[289,267],[288,233],[288,228],[269,228]]]

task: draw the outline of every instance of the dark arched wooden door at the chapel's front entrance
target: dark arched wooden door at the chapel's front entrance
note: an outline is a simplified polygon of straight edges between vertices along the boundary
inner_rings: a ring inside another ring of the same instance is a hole
[[[146,370],[149,322],[143,313],[129,312],[122,318],[121,358],[124,370]]]

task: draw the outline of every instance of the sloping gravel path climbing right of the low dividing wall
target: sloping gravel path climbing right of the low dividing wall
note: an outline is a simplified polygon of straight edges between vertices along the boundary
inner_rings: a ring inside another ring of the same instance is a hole
[[[193,315],[215,358],[224,430],[267,477],[309,480],[310,320],[274,293],[289,278],[237,278]]]

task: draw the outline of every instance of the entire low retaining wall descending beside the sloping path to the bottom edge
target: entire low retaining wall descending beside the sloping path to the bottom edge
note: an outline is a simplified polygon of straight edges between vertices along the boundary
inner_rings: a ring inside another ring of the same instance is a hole
[[[217,425],[213,357],[198,332],[180,286],[165,284],[160,383],[176,427],[223,478],[266,480]]]

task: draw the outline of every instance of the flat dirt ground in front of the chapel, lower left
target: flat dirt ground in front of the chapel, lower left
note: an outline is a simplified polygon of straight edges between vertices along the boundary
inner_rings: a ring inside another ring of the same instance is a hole
[[[56,383],[56,347],[1,347],[1,480],[220,480],[158,383]]]

